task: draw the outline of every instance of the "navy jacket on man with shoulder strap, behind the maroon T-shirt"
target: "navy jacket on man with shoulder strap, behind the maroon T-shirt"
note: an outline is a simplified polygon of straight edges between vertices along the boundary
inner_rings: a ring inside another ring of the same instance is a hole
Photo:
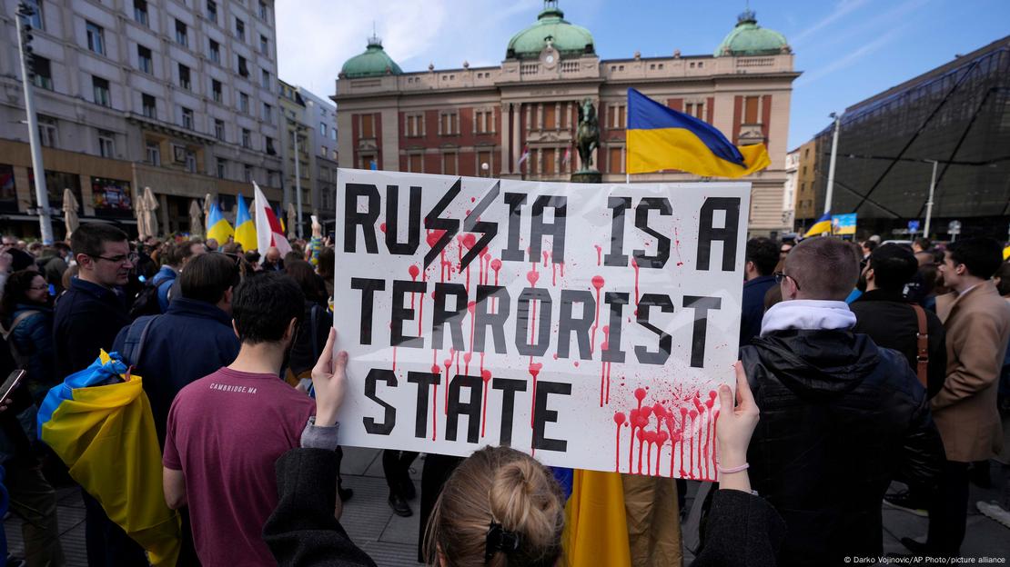
[[[123,350],[128,329],[127,326],[119,332],[113,350]],[[140,360],[128,362],[136,366],[136,373],[143,379],[143,390],[150,401],[155,429],[163,446],[169,410],[179,390],[231,364],[238,355],[238,347],[231,317],[206,302],[175,298],[168,312],[150,323]]]

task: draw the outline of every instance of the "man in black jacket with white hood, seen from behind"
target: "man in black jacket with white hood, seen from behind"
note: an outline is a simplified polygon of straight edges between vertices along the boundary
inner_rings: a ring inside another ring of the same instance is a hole
[[[812,238],[777,274],[783,302],[740,350],[762,419],[747,452],[754,488],[786,520],[781,565],[883,551],[881,502],[897,474],[933,482],[943,447],[923,387],[898,352],[853,334],[851,247]]]

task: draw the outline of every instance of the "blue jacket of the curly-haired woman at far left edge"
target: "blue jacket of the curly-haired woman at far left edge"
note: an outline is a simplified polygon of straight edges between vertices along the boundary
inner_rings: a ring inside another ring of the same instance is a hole
[[[19,304],[10,322],[22,313],[32,311],[37,313],[18,323],[9,340],[18,354],[28,361],[28,389],[35,402],[38,402],[50,387],[60,383],[56,378],[53,354],[53,309],[41,305]]]

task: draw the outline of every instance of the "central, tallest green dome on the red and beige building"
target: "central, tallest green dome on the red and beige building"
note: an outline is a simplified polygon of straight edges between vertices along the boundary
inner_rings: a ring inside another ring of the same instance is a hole
[[[565,12],[558,7],[558,0],[544,0],[543,10],[536,17],[536,23],[509,39],[505,58],[535,59],[547,45],[548,38],[562,56],[595,52],[593,34],[581,25],[569,23],[565,19]]]

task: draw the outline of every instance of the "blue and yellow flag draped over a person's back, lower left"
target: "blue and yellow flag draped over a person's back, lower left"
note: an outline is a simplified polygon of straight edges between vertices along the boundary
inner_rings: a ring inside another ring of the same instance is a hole
[[[38,438],[109,519],[147,551],[152,565],[175,565],[179,515],[165,503],[162,452],[140,376],[116,353],[53,387],[38,410]]]

